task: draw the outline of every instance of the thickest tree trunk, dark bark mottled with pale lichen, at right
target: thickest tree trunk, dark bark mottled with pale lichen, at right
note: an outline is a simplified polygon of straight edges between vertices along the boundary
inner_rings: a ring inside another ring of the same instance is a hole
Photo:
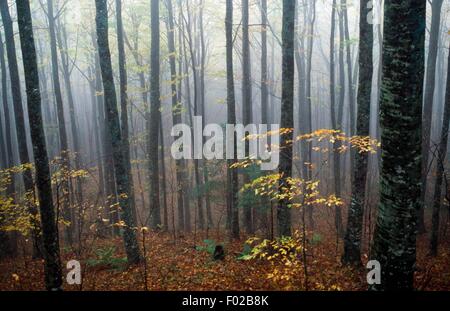
[[[381,87],[381,197],[372,258],[375,290],[412,290],[420,207],[426,2],[385,2]]]

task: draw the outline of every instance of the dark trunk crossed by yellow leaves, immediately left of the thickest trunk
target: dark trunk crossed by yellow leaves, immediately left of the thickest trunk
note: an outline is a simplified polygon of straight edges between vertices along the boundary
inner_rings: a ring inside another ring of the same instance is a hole
[[[359,87],[358,115],[356,135],[370,134],[370,98],[372,93],[373,75],[373,25],[367,23],[370,13],[367,7],[370,0],[361,1],[359,22]],[[347,231],[344,240],[344,255],[342,261],[355,265],[361,264],[361,234],[366,194],[366,179],[368,170],[368,154],[355,153],[355,168],[352,171],[352,198],[347,217]]]

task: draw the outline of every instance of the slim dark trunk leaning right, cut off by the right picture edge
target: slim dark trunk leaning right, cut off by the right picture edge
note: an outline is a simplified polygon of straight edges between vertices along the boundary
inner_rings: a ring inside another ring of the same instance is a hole
[[[438,241],[439,241],[439,221],[440,211],[442,206],[442,183],[444,181],[445,174],[445,158],[447,155],[448,144],[448,129],[450,122],[450,53],[448,56],[448,69],[447,69],[447,89],[444,102],[444,119],[442,121],[441,130],[441,142],[438,147],[437,155],[437,177],[436,184],[434,185],[434,202],[433,202],[433,217],[432,217],[432,229],[430,237],[430,255],[437,256],[438,254]],[[448,188],[447,181],[444,185]]]

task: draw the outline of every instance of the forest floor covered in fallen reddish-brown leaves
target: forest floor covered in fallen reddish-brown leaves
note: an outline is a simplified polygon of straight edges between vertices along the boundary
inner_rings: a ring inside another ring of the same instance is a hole
[[[303,266],[297,268],[298,273],[295,272],[294,278],[289,282],[275,282],[268,277],[269,274],[275,268],[283,271],[284,267],[276,267],[276,264],[268,261],[237,259],[245,240],[232,243],[224,241],[225,260],[214,261],[205,249],[194,247],[202,245],[202,239],[198,233],[196,243],[194,235],[174,240],[170,233],[148,233],[145,243],[147,264],[139,266],[127,266],[123,263],[125,255],[120,238],[92,242],[90,251],[86,251],[81,258],[63,248],[61,257],[64,279],[68,273],[65,265],[72,259],[81,259],[83,277],[81,286],[64,282],[63,288],[69,291],[306,289]],[[222,242],[220,239],[217,241]],[[427,237],[419,238],[416,289],[450,290],[450,243],[443,243],[439,256],[429,258],[426,256]],[[340,263],[341,244],[342,242],[336,248],[335,236],[324,234],[320,242],[309,247],[308,290],[366,290],[366,270],[349,268]],[[99,252],[102,260],[92,259],[96,256],[98,259]],[[363,258],[367,258],[367,255],[364,254]],[[0,290],[43,290],[43,279],[42,260],[22,256],[20,259],[0,262]]]

